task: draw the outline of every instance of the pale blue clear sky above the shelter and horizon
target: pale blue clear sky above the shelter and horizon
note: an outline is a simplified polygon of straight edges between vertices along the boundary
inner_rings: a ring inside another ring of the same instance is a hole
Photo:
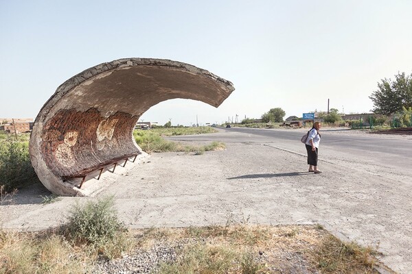
[[[213,108],[175,99],[141,119],[222,123],[282,108],[369,112],[382,78],[412,73],[412,1],[0,0],[2,118],[35,118],[56,88],[102,62],[162,58],[223,77]]]

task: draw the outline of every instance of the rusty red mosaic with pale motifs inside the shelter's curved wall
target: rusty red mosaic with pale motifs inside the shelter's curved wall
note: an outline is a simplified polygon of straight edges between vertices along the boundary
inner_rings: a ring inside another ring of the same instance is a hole
[[[58,176],[139,153],[132,134],[137,116],[115,112],[108,117],[95,108],[86,112],[59,110],[43,127],[41,151],[47,167]]]

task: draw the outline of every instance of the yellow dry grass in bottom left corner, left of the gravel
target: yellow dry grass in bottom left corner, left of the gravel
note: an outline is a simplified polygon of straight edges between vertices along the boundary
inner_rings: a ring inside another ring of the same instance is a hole
[[[59,232],[0,231],[0,274],[91,273],[98,259],[119,258],[133,247],[129,234],[92,245],[73,242]]]

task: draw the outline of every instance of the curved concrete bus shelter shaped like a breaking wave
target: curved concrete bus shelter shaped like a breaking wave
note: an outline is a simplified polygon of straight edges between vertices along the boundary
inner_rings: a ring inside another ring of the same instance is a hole
[[[89,195],[79,187],[85,173],[146,154],[133,129],[152,105],[183,98],[217,108],[233,90],[209,71],[171,60],[127,58],[93,66],[59,86],[38,113],[30,138],[34,170],[57,195]]]

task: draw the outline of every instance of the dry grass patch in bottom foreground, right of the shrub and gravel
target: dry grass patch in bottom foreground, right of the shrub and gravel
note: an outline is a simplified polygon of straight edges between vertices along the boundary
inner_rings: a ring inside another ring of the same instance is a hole
[[[160,273],[377,273],[376,252],[341,242],[323,227],[230,225],[146,229],[137,245],[185,242]]]

